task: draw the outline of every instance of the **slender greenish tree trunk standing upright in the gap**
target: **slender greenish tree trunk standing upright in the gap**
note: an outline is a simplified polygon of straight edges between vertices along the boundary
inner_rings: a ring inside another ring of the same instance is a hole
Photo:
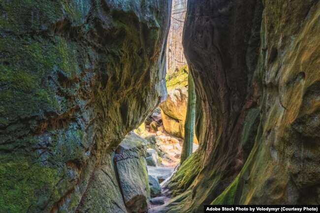
[[[195,91],[192,75],[188,75],[188,107],[185,122],[185,139],[182,145],[181,164],[192,154],[194,121],[195,121]]]

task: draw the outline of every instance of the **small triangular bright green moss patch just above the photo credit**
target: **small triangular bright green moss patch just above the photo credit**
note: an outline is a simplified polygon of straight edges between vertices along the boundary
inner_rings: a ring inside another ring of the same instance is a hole
[[[226,188],[210,205],[234,205],[237,204],[240,175]]]

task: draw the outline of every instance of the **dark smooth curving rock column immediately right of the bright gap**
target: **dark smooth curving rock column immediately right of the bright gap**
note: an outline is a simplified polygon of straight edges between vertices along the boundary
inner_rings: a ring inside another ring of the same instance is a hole
[[[253,147],[262,9],[259,0],[188,1],[183,46],[196,90],[199,149],[168,184],[179,196],[167,210],[202,212],[234,180]]]

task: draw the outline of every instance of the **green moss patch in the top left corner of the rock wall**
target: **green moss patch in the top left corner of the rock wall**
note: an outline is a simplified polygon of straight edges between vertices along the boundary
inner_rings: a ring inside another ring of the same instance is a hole
[[[2,0],[0,30],[26,33],[43,26],[49,27],[64,17],[81,23],[90,8],[90,0]]]

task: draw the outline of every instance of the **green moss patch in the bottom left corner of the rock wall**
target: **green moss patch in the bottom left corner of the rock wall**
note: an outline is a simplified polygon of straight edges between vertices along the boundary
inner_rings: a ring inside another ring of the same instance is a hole
[[[32,164],[29,156],[2,154],[0,212],[36,212],[35,206],[46,204],[59,179],[57,168]]]

